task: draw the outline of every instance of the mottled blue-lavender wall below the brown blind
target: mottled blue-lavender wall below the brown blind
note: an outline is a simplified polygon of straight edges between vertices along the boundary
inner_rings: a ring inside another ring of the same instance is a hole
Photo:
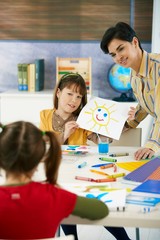
[[[142,44],[150,52],[151,44]],[[113,61],[100,49],[98,41],[0,41],[0,92],[16,89],[17,64],[45,59],[45,89],[56,82],[56,57],[92,58],[92,95],[112,99],[120,96],[110,87],[107,74]]]

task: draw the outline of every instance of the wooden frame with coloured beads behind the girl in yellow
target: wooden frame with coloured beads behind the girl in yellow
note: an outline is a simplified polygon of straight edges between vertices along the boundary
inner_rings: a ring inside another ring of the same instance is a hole
[[[85,80],[87,93],[92,93],[91,57],[56,58],[56,81],[66,73],[79,73]]]

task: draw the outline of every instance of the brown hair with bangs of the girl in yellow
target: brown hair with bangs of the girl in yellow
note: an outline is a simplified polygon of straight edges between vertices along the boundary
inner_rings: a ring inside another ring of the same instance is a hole
[[[54,91],[55,94],[53,104],[56,109],[58,108],[57,90],[60,89],[60,91],[62,91],[65,87],[67,88],[73,87],[75,92],[82,95],[81,105],[75,112],[73,112],[73,114],[77,116],[87,103],[87,88],[85,81],[82,78],[82,76],[78,73],[67,73],[63,75],[62,78],[59,80]]]

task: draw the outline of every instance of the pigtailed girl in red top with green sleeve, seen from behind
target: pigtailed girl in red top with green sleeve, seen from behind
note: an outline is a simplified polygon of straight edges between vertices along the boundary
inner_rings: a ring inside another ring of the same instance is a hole
[[[0,128],[0,169],[6,176],[0,186],[0,239],[51,238],[70,214],[92,220],[108,215],[103,202],[57,185],[61,147],[53,132],[44,133],[24,121],[0,124]],[[33,174],[42,160],[46,182],[34,182]]]

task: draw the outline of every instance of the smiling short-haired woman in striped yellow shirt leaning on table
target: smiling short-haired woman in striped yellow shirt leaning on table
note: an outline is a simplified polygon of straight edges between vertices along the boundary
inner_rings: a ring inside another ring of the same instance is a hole
[[[136,32],[124,22],[106,30],[101,49],[110,54],[116,64],[131,68],[130,82],[138,104],[135,119],[127,121],[125,127],[136,128],[148,114],[154,118],[148,141],[135,152],[136,160],[151,158],[160,149],[160,54],[149,54],[142,49]]]

